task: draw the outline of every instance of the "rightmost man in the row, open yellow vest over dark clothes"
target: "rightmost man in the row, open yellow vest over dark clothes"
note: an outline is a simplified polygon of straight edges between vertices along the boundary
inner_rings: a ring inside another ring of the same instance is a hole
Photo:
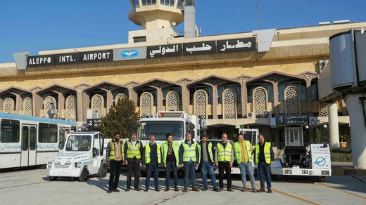
[[[268,193],[272,193],[271,186],[271,164],[273,164],[274,153],[271,143],[265,142],[265,137],[262,134],[258,135],[259,143],[255,144],[254,159],[255,164],[258,164],[258,173],[260,180],[260,190],[265,192],[265,178],[267,179]]]

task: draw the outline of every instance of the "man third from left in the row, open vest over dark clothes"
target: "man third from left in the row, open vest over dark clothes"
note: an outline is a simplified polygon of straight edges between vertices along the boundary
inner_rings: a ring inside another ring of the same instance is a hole
[[[150,143],[144,147],[142,152],[142,166],[146,167],[145,192],[149,191],[150,176],[153,173],[156,192],[159,190],[159,166],[161,163],[161,147],[155,143],[155,135],[150,135]]]

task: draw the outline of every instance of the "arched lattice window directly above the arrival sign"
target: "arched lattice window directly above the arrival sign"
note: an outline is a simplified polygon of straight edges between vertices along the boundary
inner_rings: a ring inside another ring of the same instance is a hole
[[[296,86],[287,86],[284,89],[286,114],[300,114],[300,91]]]

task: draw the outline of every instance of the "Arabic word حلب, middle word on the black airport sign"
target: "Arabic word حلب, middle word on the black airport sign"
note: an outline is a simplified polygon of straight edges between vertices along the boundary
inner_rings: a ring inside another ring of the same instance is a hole
[[[204,41],[183,44],[183,55],[197,55],[216,52],[215,41]]]

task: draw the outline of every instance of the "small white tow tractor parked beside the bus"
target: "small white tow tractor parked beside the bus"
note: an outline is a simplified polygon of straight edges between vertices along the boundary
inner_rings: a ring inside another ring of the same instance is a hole
[[[79,181],[84,181],[89,176],[106,177],[103,141],[104,136],[100,132],[70,133],[63,152],[47,164],[47,176],[50,180],[70,177],[78,178]]]

